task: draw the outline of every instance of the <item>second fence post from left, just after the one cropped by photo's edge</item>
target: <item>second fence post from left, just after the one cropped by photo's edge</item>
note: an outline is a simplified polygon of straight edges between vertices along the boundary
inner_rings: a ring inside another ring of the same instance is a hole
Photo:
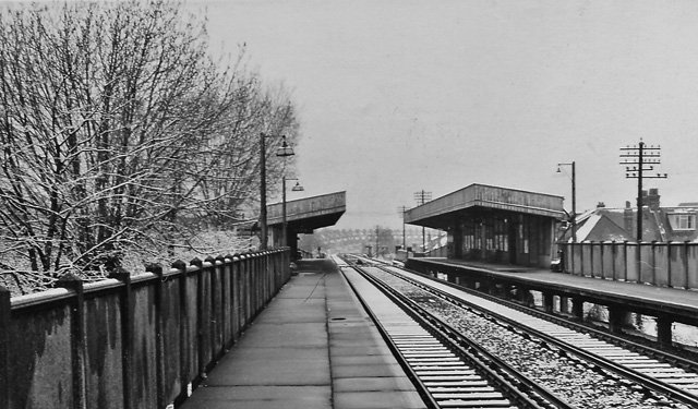
[[[85,294],[83,291],[83,280],[68,273],[56,282],[57,287],[65,288],[75,292],[75,303],[72,309],[71,349],[73,353],[73,407],[86,408],[86,386],[85,386]]]

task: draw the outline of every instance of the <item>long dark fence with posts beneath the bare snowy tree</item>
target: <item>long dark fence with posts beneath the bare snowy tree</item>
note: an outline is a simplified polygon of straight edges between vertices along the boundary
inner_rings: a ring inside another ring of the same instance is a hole
[[[0,287],[0,408],[181,402],[290,278],[288,249],[61,286]]]

